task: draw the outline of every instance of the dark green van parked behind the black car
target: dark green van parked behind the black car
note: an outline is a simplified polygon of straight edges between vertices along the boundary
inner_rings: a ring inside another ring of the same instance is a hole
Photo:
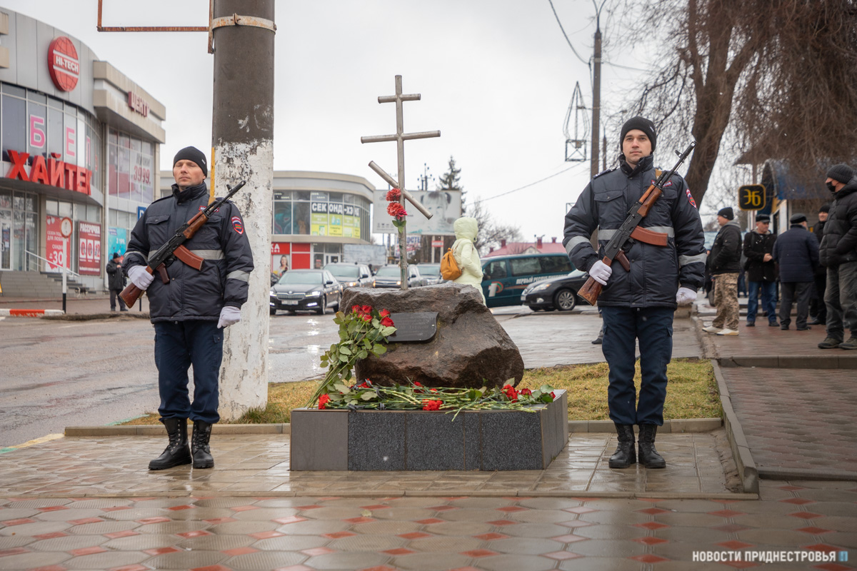
[[[533,253],[482,259],[482,294],[488,307],[518,306],[530,283],[574,271],[565,253]]]

